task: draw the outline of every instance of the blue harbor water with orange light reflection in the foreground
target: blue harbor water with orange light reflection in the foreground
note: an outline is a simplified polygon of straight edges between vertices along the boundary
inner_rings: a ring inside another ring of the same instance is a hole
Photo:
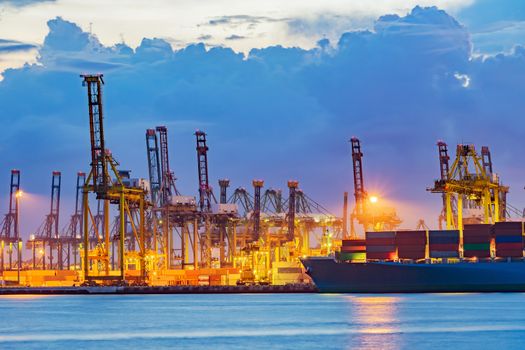
[[[525,349],[525,294],[1,296],[0,349]]]

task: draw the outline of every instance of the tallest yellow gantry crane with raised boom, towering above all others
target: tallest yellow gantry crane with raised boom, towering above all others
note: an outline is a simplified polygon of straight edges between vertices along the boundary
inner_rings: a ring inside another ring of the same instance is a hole
[[[126,186],[117,170],[118,163],[105,147],[102,85],[102,74],[81,75],[83,85],[87,87],[89,130],[91,141],[91,170],[83,188],[83,270],[84,279],[90,280],[126,280],[126,264],[129,260],[138,261],[140,279],[147,277],[145,247],[145,200],[144,188]],[[89,249],[90,224],[95,226],[94,217],[89,206],[89,194],[93,193],[104,203],[104,237],[95,249]],[[110,274],[110,230],[109,204],[118,206],[118,263],[119,275]],[[138,243],[138,252],[126,252],[126,220],[129,220],[133,236]]]

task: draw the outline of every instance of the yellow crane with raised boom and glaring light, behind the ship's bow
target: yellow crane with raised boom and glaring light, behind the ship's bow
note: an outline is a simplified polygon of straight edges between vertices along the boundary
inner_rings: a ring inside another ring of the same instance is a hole
[[[355,206],[350,214],[350,238],[357,238],[354,221],[357,220],[365,231],[394,230],[401,224],[394,208],[381,206],[377,197],[369,196],[363,178],[363,152],[357,137],[350,139],[354,175]]]

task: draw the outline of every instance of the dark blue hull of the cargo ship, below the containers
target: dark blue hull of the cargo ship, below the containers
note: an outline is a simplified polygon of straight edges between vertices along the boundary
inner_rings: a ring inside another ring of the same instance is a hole
[[[524,262],[405,264],[301,260],[321,293],[525,292]]]

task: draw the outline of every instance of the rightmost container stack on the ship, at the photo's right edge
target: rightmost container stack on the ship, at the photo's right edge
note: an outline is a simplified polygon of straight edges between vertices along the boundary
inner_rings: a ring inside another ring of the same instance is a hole
[[[493,226],[496,238],[496,256],[499,258],[523,257],[523,223],[497,222]]]

